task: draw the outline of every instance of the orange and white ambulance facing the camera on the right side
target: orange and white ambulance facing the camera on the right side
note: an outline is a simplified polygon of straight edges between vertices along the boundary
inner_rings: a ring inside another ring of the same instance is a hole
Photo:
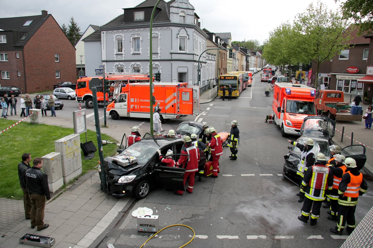
[[[280,126],[281,135],[301,135],[303,119],[316,115],[316,90],[303,84],[275,83],[272,119]]]

